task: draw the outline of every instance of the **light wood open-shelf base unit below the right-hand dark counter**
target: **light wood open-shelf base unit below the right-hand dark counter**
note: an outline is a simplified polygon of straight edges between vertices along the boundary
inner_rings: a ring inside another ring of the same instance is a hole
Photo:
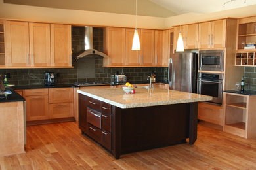
[[[256,137],[256,95],[224,93],[223,131],[240,137]]]

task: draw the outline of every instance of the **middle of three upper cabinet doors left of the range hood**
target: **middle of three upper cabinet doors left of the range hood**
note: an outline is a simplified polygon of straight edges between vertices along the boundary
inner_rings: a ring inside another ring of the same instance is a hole
[[[30,66],[51,66],[50,24],[29,23]]]

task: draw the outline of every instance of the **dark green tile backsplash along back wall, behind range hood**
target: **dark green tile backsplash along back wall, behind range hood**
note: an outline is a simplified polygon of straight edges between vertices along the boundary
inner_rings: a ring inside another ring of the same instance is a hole
[[[10,73],[9,84],[16,85],[34,85],[43,84],[43,73],[47,71],[60,73],[57,78],[58,84],[85,82],[85,81],[104,81],[110,82],[110,75],[114,75],[117,71],[124,73],[127,76],[127,81],[145,82],[148,75],[152,72],[156,73],[157,82],[167,82],[167,67],[121,67],[121,68],[104,68],[103,58],[96,56],[95,58],[95,73],[89,74],[89,77],[79,76],[82,73],[81,67],[77,67],[77,62],[86,62],[86,59],[80,59],[75,62],[75,56],[84,49],[84,27],[72,27],[72,65],[74,69],[0,69],[0,74]],[[103,52],[103,29],[93,28],[93,44],[95,50]],[[92,61],[90,61],[92,62]],[[93,72],[92,71],[92,72]],[[92,78],[92,75],[95,76]],[[256,80],[256,78],[255,78]],[[254,82],[255,83],[255,82]]]

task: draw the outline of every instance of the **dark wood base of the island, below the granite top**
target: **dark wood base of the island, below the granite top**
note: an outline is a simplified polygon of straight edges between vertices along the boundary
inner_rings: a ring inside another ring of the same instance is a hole
[[[121,154],[186,143],[187,138],[189,144],[196,141],[197,103],[121,109],[98,101],[100,127],[87,116],[91,110],[89,101],[91,97],[79,93],[79,128],[110,150],[116,159]]]

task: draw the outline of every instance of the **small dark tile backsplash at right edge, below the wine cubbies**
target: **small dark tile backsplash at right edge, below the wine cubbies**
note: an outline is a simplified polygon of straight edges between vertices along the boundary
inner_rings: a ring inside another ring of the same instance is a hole
[[[256,67],[244,67],[245,89],[256,90]]]

